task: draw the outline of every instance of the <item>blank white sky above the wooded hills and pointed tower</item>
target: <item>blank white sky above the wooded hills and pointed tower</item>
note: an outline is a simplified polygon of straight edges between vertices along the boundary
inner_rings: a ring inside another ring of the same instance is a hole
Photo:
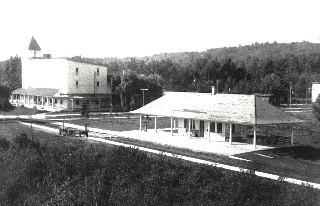
[[[2,1],[0,61],[34,36],[53,57],[127,57],[267,41],[320,43],[320,1]]]

